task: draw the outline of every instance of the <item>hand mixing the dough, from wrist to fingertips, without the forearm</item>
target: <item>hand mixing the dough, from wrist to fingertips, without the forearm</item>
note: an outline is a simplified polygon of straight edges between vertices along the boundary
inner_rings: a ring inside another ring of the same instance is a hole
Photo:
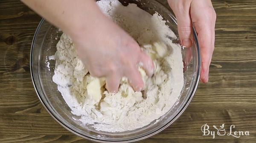
[[[109,92],[116,93],[123,76],[128,78],[135,91],[141,91],[144,83],[138,63],[148,76],[154,72],[151,58],[140,50],[138,43],[104,14],[92,22],[91,31],[81,26],[76,36],[71,36],[79,58],[94,77],[105,77]]]

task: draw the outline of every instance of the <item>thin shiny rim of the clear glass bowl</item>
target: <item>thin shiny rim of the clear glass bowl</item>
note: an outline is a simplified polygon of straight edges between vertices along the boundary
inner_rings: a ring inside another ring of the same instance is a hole
[[[157,1],[156,1],[157,2]],[[158,4],[162,5],[162,3],[157,2]],[[165,6],[164,6],[165,7]],[[167,8],[168,9],[168,8]],[[169,9],[168,9],[169,10]],[[170,11],[170,10],[169,10]],[[170,11],[171,12],[171,11]],[[175,18],[175,16],[173,15],[173,13],[171,12],[171,15],[169,14],[169,16],[172,18],[172,20],[177,24],[177,19]],[[158,129],[155,132],[149,133],[148,135],[142,136],[142,137],[137,137],[135,139],[126,139],[126,140],[120,140],[120,141],[110,141],[110,140],[100,140],[100,139],[95,139],[92,137],[88,137],[86,135],[81,135],[78,132],[76,132],[75,130],[69,128],[67,125],[65,125],[64,123],[62,123],[51,111],[50,109],[47,107],[47,105],[44,103],[44,101],[42,100],[38,87],[35,85],[35,76],[34,76],[34,71],[33,71],[33,65],[32,65],[32,60],[33,60],[33,50],[35,47],[35,42],[38,36],[38,32],[40,31],[40,28],[42,26],[42,24],[44,23],[45,19],[42,18],[42,20],[39,22],[38,27],[36,28],[33,40],[32,40],[32,45],[31,45],[31,50],[30,50],[30,73],[31,73],[31,79],[32,79],[32,84],[34,86],[35,92],[38,95],[39,100],[41,101],[41,103],[43,104],[44,108],[47,110],[47,112],[52,116],[52,118],[54,118],[55,121],[57,121],[61,126],[63,126],[65,129],[67,129],[68,131],[72,132],[73,134],[82,137],[84,139],[87,140],[91,140],[94,142],[100,142],[100,143],[127,143],[129,142],[137,142],[137,141],[141,141],[141,140],[145,140],[149,137],[152,137],[154,135],[157,135],[158,133],[162,132],[164,129],[166,129],[167,127],[169,127],[170,125],[172,125],[172,123],[174,123],[175,121],[177,121],[178,118],[180,118],[180,116],[182,115],[182,113],[186,110],[186,108],[189,106],[190,102],[192,101],[192,98],[195,95],[195,92],[197,90],[198,84],[199,84],[199,80],[200,80],[200,75],[201,75],[201,52],[200,52],[200,46],[198,43],[198,38],[197,38],[197,34],[195,31],[195,28],[193,26],[192,31],[193,31],[193,35],[194,35],[194,40],[195,40],[195,46],[197,49],[197,55],[198,55],[198,71],[197,71],[197,75],[196,75],[196,80],[195,80],[195,85],[192,88],[192,94],[190,95],[189,99],[187,100],[185,106],[180,110],[180,112],[175,116],[175,118],[173,118],[171,121],[169,121],[169,123],[167,123],[166,125],[164,125],[162,128]]]

